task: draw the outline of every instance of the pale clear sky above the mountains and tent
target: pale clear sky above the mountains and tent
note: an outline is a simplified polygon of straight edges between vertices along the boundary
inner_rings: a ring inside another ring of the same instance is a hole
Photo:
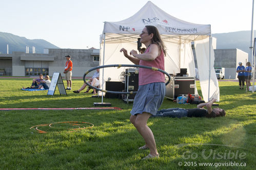
[[[100,47],[104,21],[120,21],[146,0],[2,0],[0,32],[45,39],[61,48]],[[151,0],[170,15],[210,24],[211,32],[251,30],[252,0]],[[255,28],[255,27],[254,27]],[[255,30],[255,29],[254,29]]]

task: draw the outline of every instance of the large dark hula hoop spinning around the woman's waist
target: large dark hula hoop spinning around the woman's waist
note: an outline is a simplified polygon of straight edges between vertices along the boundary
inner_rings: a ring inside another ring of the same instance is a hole
[[[162,72],[163,74],[167,75],[169,80],[167,81],[167,83],[165,83],[165,85],[169,84],[170,81],[171,81],[171,77],[170,75],[162,70],[162,69],[159,69],[159,68],[155,68],[155,67],[149,67],[149,66],[145,66],[145,65],[131,65],[131,64],[111,64],[111,65],[101,65],[101,66],[97,66],[97,67],[93,67],[89,70],[87,70],[84,74],[84,82],[85,84],[87,84],[89,87],[91,88],[94,88],[96,90],[99,90],[99,91],[102,91],[102,92],[106,92],[106,93],[114,93],[114,94],[134,94],[134,93],[137,93],[137,91],[129,91],[129,92],[125,92],[125,91],[109,91],[109,90],[103,90],[103,89],[100,89],[100,88],[97,88],[97,87],[94,87],[92,85],[90,85],[88,82],[86,82],[85,80],[85,77],[86,75],[88,75],[89,72],[95,70],[95,69],[99,69],[99,68],[105,68],[105,67],[117,67],[117,68],[120,68],[120,67],[139,67],[139,68],[147,68],[147,69],[152,69],[153,71],[160,71]]]

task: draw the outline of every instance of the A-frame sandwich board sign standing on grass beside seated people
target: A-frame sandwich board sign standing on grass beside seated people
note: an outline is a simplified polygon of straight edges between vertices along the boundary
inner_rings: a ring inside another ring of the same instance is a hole
[[[56,85],[58,86],[58,91],[60,92],[60,94],[67,95],[67,92],[62,80],[62,75],[60,74],[60,72],[53,72],[51,84],[50,84],[47,95],[54,95],[54,92],[56,90]]]

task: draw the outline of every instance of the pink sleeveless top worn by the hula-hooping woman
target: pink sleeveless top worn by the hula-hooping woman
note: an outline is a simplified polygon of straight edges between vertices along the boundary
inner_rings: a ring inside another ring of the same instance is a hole
[[[149,48],[145,51],[145,53],[149,52]],[[165,61],[164,61],[164,52],[162,50],[161,55],[157,56],[153,61],[144,61],[140,60],[140,65],[146,65],[150,67],[160,68],[165,70]],[[165,75],[160,71],[153,71],[152,69],[140,68],[139,71],[139,86],[145,85],[154,82],[164,82],[165,83]]]

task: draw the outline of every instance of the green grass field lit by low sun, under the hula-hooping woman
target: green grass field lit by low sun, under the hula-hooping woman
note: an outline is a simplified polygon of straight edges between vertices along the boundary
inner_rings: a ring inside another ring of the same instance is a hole
[[[72,82],[72,90],[83,84]],[[0,108],[94,107],[93,102],[101,102],[72,91],[66,96],[56,90],[47,96],[47,91],[21,90],[30,84],[31,79],[0,77]],[[132,104],[120,99],[104,102],[123,110],[0,111],[0,169],[256,169],[256,94],[239,90],[238,82],[222,81],[219,86],[219,107],[226,110],[226,117],[149,119],[160,159],[146,161],[141,158],[149,151],[138,150],[144,140],[129,122]],[[199,82],[197,87],[200,93]],[[160,109],[172,107],[196,105],[165,99]],[[30,129],[74,121],[94,127],[46,134]]]

